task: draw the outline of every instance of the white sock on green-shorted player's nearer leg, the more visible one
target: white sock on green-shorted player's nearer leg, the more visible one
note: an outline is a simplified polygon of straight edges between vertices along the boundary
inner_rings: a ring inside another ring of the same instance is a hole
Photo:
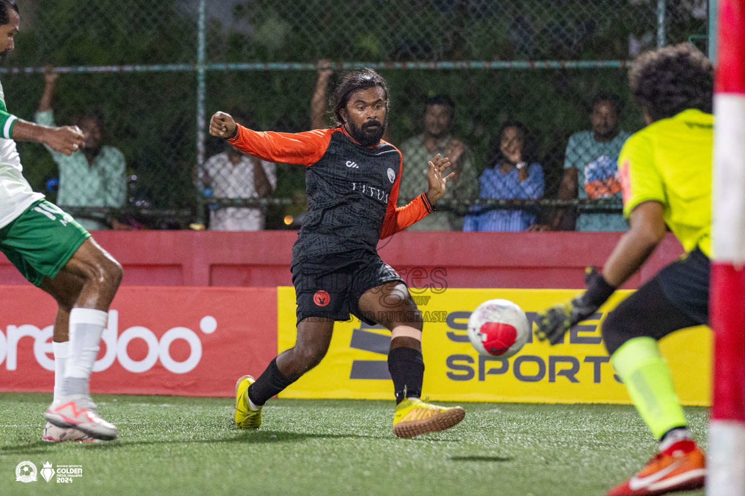
[[[98,355],[98,344],[109,314],[103,310],[72,309],[70,312],[69,355],[65,377],[87,379]],[[66,391],[70,394],[72,391]]]

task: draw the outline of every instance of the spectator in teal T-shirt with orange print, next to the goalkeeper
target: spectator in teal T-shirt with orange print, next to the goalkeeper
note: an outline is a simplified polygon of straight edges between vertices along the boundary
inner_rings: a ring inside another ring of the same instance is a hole
[[[609,199],[621,201],[618,179],[618,154],[630,133],[618,130],[621,100],[615,94],[600,93],[592,99],[592,130],[575,132],[566,146],[564,177],[559,199]],[[575,193],[577,192],[577,193]],[[621,213],[591,213],[591,206],[580,206],[577,231],[626,231],[628,224]],[[560,209],[550,226],[536,231],[557,230],[567,209]]]

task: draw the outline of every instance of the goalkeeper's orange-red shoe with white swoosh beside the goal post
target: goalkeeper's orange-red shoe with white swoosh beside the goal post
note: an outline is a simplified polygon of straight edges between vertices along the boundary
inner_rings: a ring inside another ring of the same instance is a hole
[[[660,451],[630,480],[611,489],[608,496],[658,496],[693,491],[704,486],[706,455],[692,439],[678,441]]]

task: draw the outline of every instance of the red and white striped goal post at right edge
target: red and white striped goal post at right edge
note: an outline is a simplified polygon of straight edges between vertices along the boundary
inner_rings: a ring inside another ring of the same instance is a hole
[[[745,0],[719,0],[708,496],[745,496]]]

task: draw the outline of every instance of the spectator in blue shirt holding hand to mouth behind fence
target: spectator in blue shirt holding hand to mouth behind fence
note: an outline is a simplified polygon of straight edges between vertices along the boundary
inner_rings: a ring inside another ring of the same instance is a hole
[[[509,120],[501,126],[492,159],[479,182],[482,199],[539,199],[545,181],[536,156],[536,141],[523,123]],[[464,219],[463,231],[525,231],[536,223],[537,207],[521,210],[483,210]],[[530,211],[533,210],[533,211]]]

